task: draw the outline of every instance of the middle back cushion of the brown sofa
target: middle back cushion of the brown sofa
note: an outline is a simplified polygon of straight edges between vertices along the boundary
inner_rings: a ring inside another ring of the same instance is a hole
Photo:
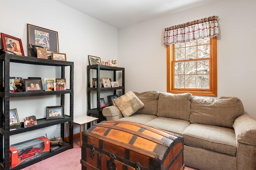
[[[162,92],[158,99],[158,117],[169,117],[189,121],[192,94],[172,94]]]

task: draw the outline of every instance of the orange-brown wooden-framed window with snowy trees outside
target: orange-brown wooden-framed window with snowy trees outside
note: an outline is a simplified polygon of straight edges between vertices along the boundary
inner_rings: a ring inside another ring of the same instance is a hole
[[[167,92],[217,96],[217,39],[167,45]]]

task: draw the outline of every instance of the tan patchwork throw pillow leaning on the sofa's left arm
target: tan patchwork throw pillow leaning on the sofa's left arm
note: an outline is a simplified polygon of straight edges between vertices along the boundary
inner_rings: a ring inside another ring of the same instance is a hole
[[[130,115],[135,113],[138,109],[144,106],[144,104],[132,91],[129,91],[126,94],[115,99],[114,103],[120,109],[124,117],[129,117]]]

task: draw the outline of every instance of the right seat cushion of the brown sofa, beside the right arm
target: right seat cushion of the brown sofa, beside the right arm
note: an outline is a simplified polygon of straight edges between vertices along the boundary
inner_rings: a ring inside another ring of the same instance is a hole
[[[233,129],[191,123],[182,136],[184,145],[236,156],[236,135]]]

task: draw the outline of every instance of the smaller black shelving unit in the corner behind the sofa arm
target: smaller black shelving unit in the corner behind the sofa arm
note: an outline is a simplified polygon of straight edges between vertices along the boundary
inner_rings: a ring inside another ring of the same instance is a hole
[[[97,87],[91,87],[91,70],[96,70],[96,78],[97,78]],[[113,74],[114,80],[112,81],[117,81],[117,71],[122,71],[122,86],[119,87],[108,87],[104,88],[100,86],[100,70],[108,71]],[[105,66],[105,65],[88,65],[87,66],[87,115],[93,116],[93,117],[98,117],[100,121],[106,120],[106,118],[102,115],[102,109],[100,108],[100,98],[103,98],[103,96],[100,96],[100,92],[104,91],[113,91],[113,95],[116,95],[117,90],[122,90],[122,95],[124,95],[124,68],[122,67],[111,67],[111,66]],[[97,93],[97,107],[96,108],[91,108],[91,93],[93,91],[96,91]]]

